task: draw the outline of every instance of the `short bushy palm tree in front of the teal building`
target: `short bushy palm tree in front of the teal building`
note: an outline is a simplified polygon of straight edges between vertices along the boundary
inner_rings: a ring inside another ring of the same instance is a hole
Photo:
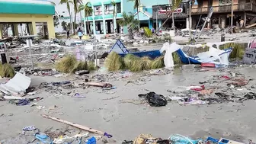
[[[130,39],[133,39],[133,30],[139,28],[139,20],[136,20],[131,12],[129,14],[123,12],[123,19],[118,21],[118,24],[121,26],[127,26],[128,36]]]

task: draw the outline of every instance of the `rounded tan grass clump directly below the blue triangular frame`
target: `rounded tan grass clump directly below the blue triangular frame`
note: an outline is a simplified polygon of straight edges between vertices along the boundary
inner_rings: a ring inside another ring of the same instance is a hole
[[[104,66],[108,71],[117,71],[123,68],[123,59],[115,52],[111,52],[107,55]]]

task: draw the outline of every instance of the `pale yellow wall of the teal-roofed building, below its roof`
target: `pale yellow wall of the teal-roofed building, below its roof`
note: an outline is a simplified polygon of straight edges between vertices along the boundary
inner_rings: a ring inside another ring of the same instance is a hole
[[[0,14],[1,22],[31,22],[34,34],[37,34],[36,23],[46,22],[49,38],[55,38],[53,15],[45,14]]]

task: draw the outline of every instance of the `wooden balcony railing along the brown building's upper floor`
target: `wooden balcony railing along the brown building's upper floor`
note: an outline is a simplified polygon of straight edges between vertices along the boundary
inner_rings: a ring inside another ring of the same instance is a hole
[[[253,3],[242,3],[233,5],[233,11],[256,11],[256,5]],[[232,9],[231,5],[219,5],[213,6],[213,13],[230,13]],[[210,7],[204,8],[192,8],[191,14],[208,14]],[[187,14],[189,10],[187,11]]]

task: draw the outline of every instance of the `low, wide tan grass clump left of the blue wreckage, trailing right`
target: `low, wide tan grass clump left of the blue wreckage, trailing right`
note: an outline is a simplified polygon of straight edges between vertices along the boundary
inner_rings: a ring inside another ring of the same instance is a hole
[[[80,70],[95,70],[94,62],[82,62],[75,59],[75,56],[65,56],[56,63],[59,72],[75,73]]]

